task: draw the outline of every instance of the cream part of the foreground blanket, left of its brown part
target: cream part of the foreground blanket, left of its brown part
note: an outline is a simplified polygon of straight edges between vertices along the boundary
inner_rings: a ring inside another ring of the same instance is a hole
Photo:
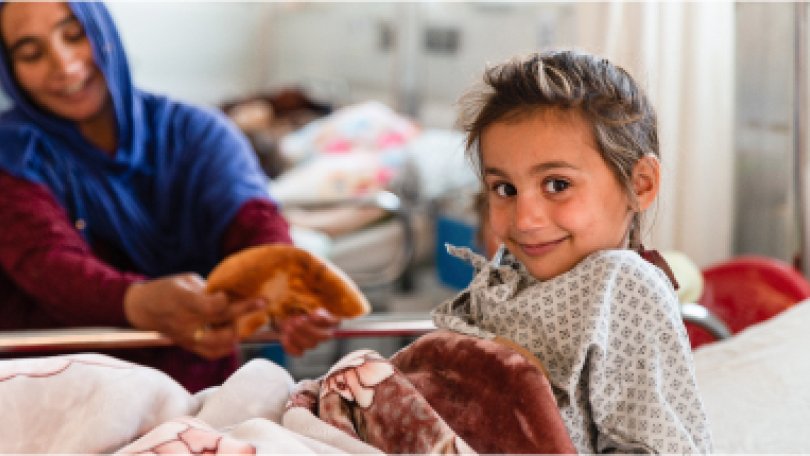
[[[0,452],[379,453],[305,409],[285,413],[292,387],[265,360],[195,395],[162,372],[97,354],[2,361]]]

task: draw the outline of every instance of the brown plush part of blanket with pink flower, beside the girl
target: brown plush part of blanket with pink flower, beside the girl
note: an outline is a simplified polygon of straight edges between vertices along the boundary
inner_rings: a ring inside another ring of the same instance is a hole
[[[289,407],[386,453],[575,453],[536,359],[439,330],[390,360],[353,352]]]

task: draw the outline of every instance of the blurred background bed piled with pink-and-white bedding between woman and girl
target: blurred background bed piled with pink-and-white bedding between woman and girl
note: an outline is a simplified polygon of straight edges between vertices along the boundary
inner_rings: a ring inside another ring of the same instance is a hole
[[[345,271],[375,310],[386,291],[412,291],[413,266],[430,260],[434,202],[478,185],[461,132],[422,128],[379,102],[332,111],[283,90],[222,109],[273,178],[294,243]]]

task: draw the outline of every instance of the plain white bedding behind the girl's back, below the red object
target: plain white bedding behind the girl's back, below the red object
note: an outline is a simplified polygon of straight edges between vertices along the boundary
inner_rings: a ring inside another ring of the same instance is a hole
[[[695,352],[717,453],[810,452],[810,301]]]

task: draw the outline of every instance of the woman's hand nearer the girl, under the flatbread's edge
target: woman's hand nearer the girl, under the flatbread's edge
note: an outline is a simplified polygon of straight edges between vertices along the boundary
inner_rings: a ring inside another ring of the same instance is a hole
[[[334,337],[339,320],[326,309],[315,309],[311,314],[293,315],[276,322],[281,333],[279,341],[284,351],[300,356],[324,340]]]

